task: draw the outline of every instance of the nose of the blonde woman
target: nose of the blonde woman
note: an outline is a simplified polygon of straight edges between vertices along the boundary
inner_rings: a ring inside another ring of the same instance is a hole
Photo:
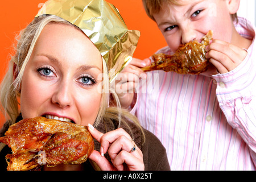
[[[67,82],[62,82],[56,86],[55,93],[52,96],[52,103],[65,108],[72,105],[72,90]]]

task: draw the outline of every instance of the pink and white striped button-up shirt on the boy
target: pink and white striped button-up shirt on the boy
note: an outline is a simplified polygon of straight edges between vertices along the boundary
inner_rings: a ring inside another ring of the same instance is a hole
[[[233,71],[154,71],[137,89],[131,113],[166,147],[172,170],[256,168],[255,30],[243,18],[236,28],[253,43]],[[168,47],[158,52],[171,54]]]

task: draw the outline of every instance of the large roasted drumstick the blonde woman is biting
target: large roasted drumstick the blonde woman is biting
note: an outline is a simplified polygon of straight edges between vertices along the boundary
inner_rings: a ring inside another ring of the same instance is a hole
[[[44,117],[23,119],[9,127],[0,142],[13,154],[6,155],[7,170],[31,170],[46,164],[81,164],[94,150],[86,126]]]

